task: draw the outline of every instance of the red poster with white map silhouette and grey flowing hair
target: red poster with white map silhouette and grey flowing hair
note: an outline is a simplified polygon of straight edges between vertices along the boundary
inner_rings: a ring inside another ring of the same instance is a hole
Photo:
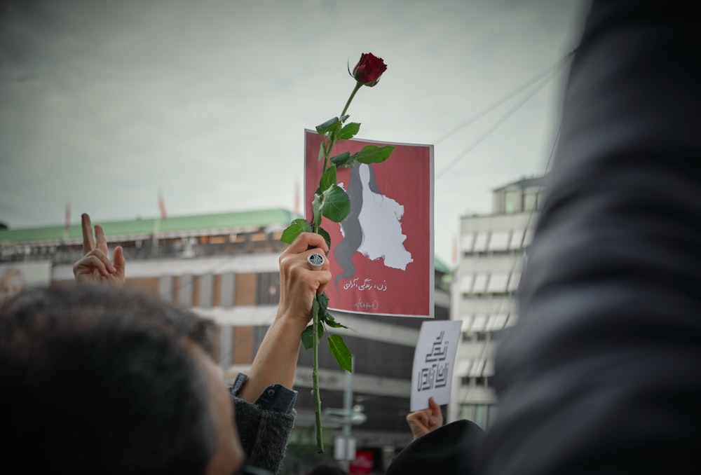
[[[305,131],[307,219],[322,174],[321,140]],[[395,150],[383,163],[336,172],[351,214],[343,223],[321,223],[331,235],[329,309],[433,318],[433,146],[351,139],[336,142],[332,155],[367,145]]]

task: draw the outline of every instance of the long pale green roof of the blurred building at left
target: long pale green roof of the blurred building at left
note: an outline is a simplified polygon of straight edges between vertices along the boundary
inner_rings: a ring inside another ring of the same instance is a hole
[[[192,216],[168,216],[168,219],[132,219],[130,221],[100,221],[97,216],[91,216],[91,218],[93,224],[100,224],[104,233],[108,237],[114,238],[125,235],[150,235],[154,233],[156,228],[159,233],[182,233],[203,229],[287,226],[292,221],[292,212],[287,209],[260,209]],[[0,230],[0,244],[60,242],[63,239],[63,226]],[[70,226],[67,239],[83,239],[80,223]]]

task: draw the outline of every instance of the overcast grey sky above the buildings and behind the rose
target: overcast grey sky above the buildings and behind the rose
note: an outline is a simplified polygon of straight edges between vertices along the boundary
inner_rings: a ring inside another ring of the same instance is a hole
[[[293,209],[304,129],[336,116],[361,53],[388,70],[349,113],[359,138],[435,144],[435,251],[463,214],[543,174],[580,1],[62,0],[0,6],[0,222]],[[444,138],[449,132],[459,130]],[[494,132],[472,146],[486,132]],[[465,151],[468,151],[465,153]],[[302,199],[304,200],[304,196]]]

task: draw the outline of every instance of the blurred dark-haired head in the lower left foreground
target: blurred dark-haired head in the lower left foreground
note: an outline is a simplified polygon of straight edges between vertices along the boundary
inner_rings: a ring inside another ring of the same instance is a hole
[[[0,315],[5,466],[230,475],[242,462],[206,321],[89,285],[27,289]]]

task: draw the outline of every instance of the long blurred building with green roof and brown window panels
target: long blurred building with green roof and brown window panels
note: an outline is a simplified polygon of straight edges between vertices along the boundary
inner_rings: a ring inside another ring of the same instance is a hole
[[[226,380],[247,372],[275,317],[280,279],[278,256],[286,245],[280,235],[296,216],[285,209],[233,212],[168,219],[102,222],[110,249],[121,245],[127,259],[127,287],[190,308],[217,322],[217,359]],[[82,256],[79,225],[0,230],[0,275],[20,270],[27,284],[71,284],[72,266]],[[448,319],[450,298],[441,287],[449,270],[435,262],[435,318]],[[14,275],[14,273],[13,273]],[[367,417],[354,426],[358,449],[372,450],[376,469],[409,441],[411,366],[423,319],[372,317],[343,313],[338,329],[354,354],[353,406]],[[315,450],[312,354],[301,348],[295,389],[297,422],[283,473],[318,463]],[[331,354],[320,350],[322,408],[343,408],[346,374]],[[325,446],[333,455],[341,422],[326,413]],[[304,454],[311,454],[308,461]],[[302,454],[302,455],[300,455]]]

